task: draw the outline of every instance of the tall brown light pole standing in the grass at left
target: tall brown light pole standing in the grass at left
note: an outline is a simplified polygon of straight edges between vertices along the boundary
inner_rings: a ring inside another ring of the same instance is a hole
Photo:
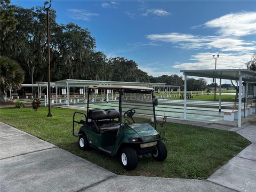
[[[47,18],[47,75],[48,75],[48,115],[47,117],[51,117],[51,68],[50,68],[50,26],[49,26],[49,9],[51,7],[52,0],[50,2],[44,2],[44,9],[46,10],[46,18]],[[45,5],[49,4],[48,7]]]

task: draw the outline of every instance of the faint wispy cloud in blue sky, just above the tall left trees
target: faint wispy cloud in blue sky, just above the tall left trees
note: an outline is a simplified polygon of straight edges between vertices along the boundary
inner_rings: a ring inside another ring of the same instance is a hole
[[[99,16],[98,13],[90,13],[83,9],[69,9],[69,15],[76,20],[90,21],[92,17]]]

